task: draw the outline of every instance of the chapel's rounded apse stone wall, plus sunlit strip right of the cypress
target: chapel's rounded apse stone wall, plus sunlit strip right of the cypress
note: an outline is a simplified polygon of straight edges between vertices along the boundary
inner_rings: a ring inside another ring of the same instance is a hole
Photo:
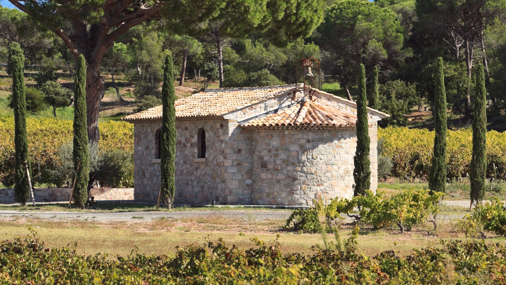
[[[371,190],[377,188],[376,127],[371,137]],[[312,199],[353,197],[355,130],[257,130],[252,202],[312,205]]]

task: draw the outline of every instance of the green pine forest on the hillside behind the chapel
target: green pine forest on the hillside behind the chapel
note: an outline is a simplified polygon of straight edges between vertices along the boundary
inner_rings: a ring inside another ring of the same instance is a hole
[[[275,10],[271,2],[266,3],[267,9]],[[360,64],[365,66],[367,84],[376,66],[379,98],[375,104],[392,115],[382,124],[402,126],[407,124],[404,115],[416,106],[433,105],[436,59],[442,57],[447,105],[454,116],[472,118],[477,62],[485,70],[487,115],[500,116],[506,111],[506,0],[298,3],[307,5],[297,8],[304,13],[287,15],[289,9],[285,9],[282,19],[296,22],[300,17],[306,22],[298,24],[299,30],[286,30],[290,25],[277,23],[275,15],[264,23],[267,16],[258,16],[261,12],[249,6],[242,11],[246,6],[224,4],[226,16],[223,11],[205,16],[187,13],[180,20],[170,20],[160,12],[160,17],[119,34],[107,46],[100,62],[105,70],[99,72],[113,76],[118,96],[114,75],[121,74],[135,84],[138,99],[156,101],[161,96],[167,53],[172,53],[179,85],[186,79],[218,81],[221,87],[294,83],[295,62],[315,57],[321,60],[325,82],[339,83],[336,94],[355,100]],[[191,24],[191,17],[198,21]],[[60,68],[73,73],[75,51],[62,39],[43,20],[33,20],[17,9],[0,8],[3,63],[7,63],[7,48],[17,42],[25,53],[25,65],[55,69],[58,62]],[[47,81],[51,79],[41,79],[40,86]],[[56,87],[46,84],[45,88]],[[60,101],[68,103],[68,92],[59,92]],[[52,105],[56,108],[58,103]]]

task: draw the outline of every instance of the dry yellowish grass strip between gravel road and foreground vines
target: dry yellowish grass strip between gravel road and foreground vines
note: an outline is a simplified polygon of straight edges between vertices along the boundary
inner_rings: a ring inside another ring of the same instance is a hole
[[[254,246],[251,237],[258,237],[266,242],[276,239],[283,253],[310,253],[311,247],[319,244],[323,247],[320,234],[299,234],[282,229],[282,221],[274,225],[260,225],[263,221],[247,221],[245,219],[227,219],[217,213],[209,217],[193,219],[161,218],[151,221],[133,219],[129,222],[98,223],[91,221],[46,221],[23,217],[0,222],[0,237],[12,239],[29,234],[28,226],[45,240],[49,246],[62,247],[76,243],[79,253],[95,254],[105,252],[115,255],[128,255],[136,246],[140,253],[174,254],[177,245],[190,243],[202,244],[203,237],[217,240],[222,237],[227,244],[235,244],[240,248]],[[271,223],[266,221],[265,223]],[[363,228],[358,237],[360,251],[368,256],[394,250],[397,255],[405,256],[412,253],[413,248],[436,245],[441,238],[465,239],[466,236],[456,230],[454,221],[439,221],[438,229],[433,230],[432,224],[413,228],[411,232],[400,234],[396,227],[374,230]],[[341,238],[351,235],[353,225],[343,225]],[[334,240],[332,234],[328,240]],[[506,242],[502,237],[494,236],[494,242]]]

